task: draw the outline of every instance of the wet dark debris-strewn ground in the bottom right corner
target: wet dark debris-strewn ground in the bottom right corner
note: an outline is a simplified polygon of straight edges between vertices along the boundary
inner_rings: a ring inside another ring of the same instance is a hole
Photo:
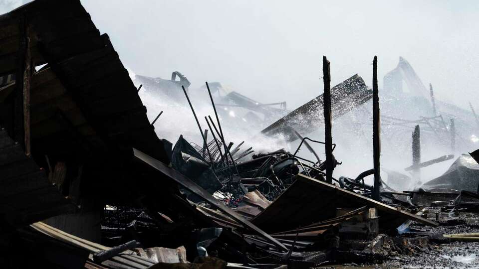
[[[429,216],[437,218],[439,227],[411,225],[429,236],[429,244],[399,246],[393,238],[387,240],[375,254],[380,261],[364,264],[325,265],[317,268],[381,268],[381,269],[472,269],[479,268],[478,242],[451,242],[443,234],[479,233],[479,213],[463,212],[449,208],[429,208]],[[410,234],[412,235],[412,234]]]

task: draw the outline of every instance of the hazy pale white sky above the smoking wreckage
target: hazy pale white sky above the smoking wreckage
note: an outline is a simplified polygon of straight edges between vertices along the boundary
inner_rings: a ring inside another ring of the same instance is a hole
[[[358,73],[379,85],[399,56],[437,98],[479,106],[479,1],[81,0],[123,63],[137,74],[220,81],[293,109]],[[0,0],[0,11],[20,4]]]

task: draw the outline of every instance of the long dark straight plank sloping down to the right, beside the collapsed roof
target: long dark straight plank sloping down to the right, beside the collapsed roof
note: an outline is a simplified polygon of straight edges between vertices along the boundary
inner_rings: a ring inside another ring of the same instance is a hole
[[[272,238],[270,235],[266,234],[263,232],[261,229],[250,223],[249,221],[243,219],[241,216],[239,216],[236,212],[231,210],[229,207],[227,207],[225,204],[223,204],[221,201],[215,199],[211,194],[209,194],[205,189],[202,187],[198,186],[196,183],[185,177],[183,174],[180,172],[172,169],[171,167],[168,167],[164,163],[162,163],[159,160],[156,160],[155,158],[133,148],[133,155],[138,159],[143,161],[144,163],[148,164],[152,168],[158,170],[161,172],[163,175],[166,177],[174,180],[178,184],[182,185],[183,187],[187,188],[188,190],[194,192],[195,194],[199,195],[202,199],[204,199],[206,202],[210,203],[211,205],[217,207],[220,211],[223,213],[228,214],[232,219],[235,221],[239,222],[241,225],[244,227],[247,227],[248,229],[254,231],[255,233],[261,235],[266,239],[269,243],[273,244],[274,246],[278,247],[280,250],[283,251],[288,251],[286,247],[284,247],[281,243],[279,243],[277,240]]]

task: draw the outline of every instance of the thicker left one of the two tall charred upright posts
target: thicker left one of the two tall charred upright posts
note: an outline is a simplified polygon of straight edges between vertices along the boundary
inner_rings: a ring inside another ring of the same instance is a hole
[[[323,56],[323,113],[324,113],[324,149],[326,152],[326,182],[333,183],[333,138],[331,134],[331,73],[329,61]]]

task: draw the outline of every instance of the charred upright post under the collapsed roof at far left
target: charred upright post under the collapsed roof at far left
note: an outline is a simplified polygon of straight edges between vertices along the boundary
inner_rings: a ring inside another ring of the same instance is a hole
[[[30,34],[26,15],[20,17],[18,65],[15,73],[15,96],[13,101],[13,138],[20,142],[25,154],[30,156],[30,81],[32,63]]]

